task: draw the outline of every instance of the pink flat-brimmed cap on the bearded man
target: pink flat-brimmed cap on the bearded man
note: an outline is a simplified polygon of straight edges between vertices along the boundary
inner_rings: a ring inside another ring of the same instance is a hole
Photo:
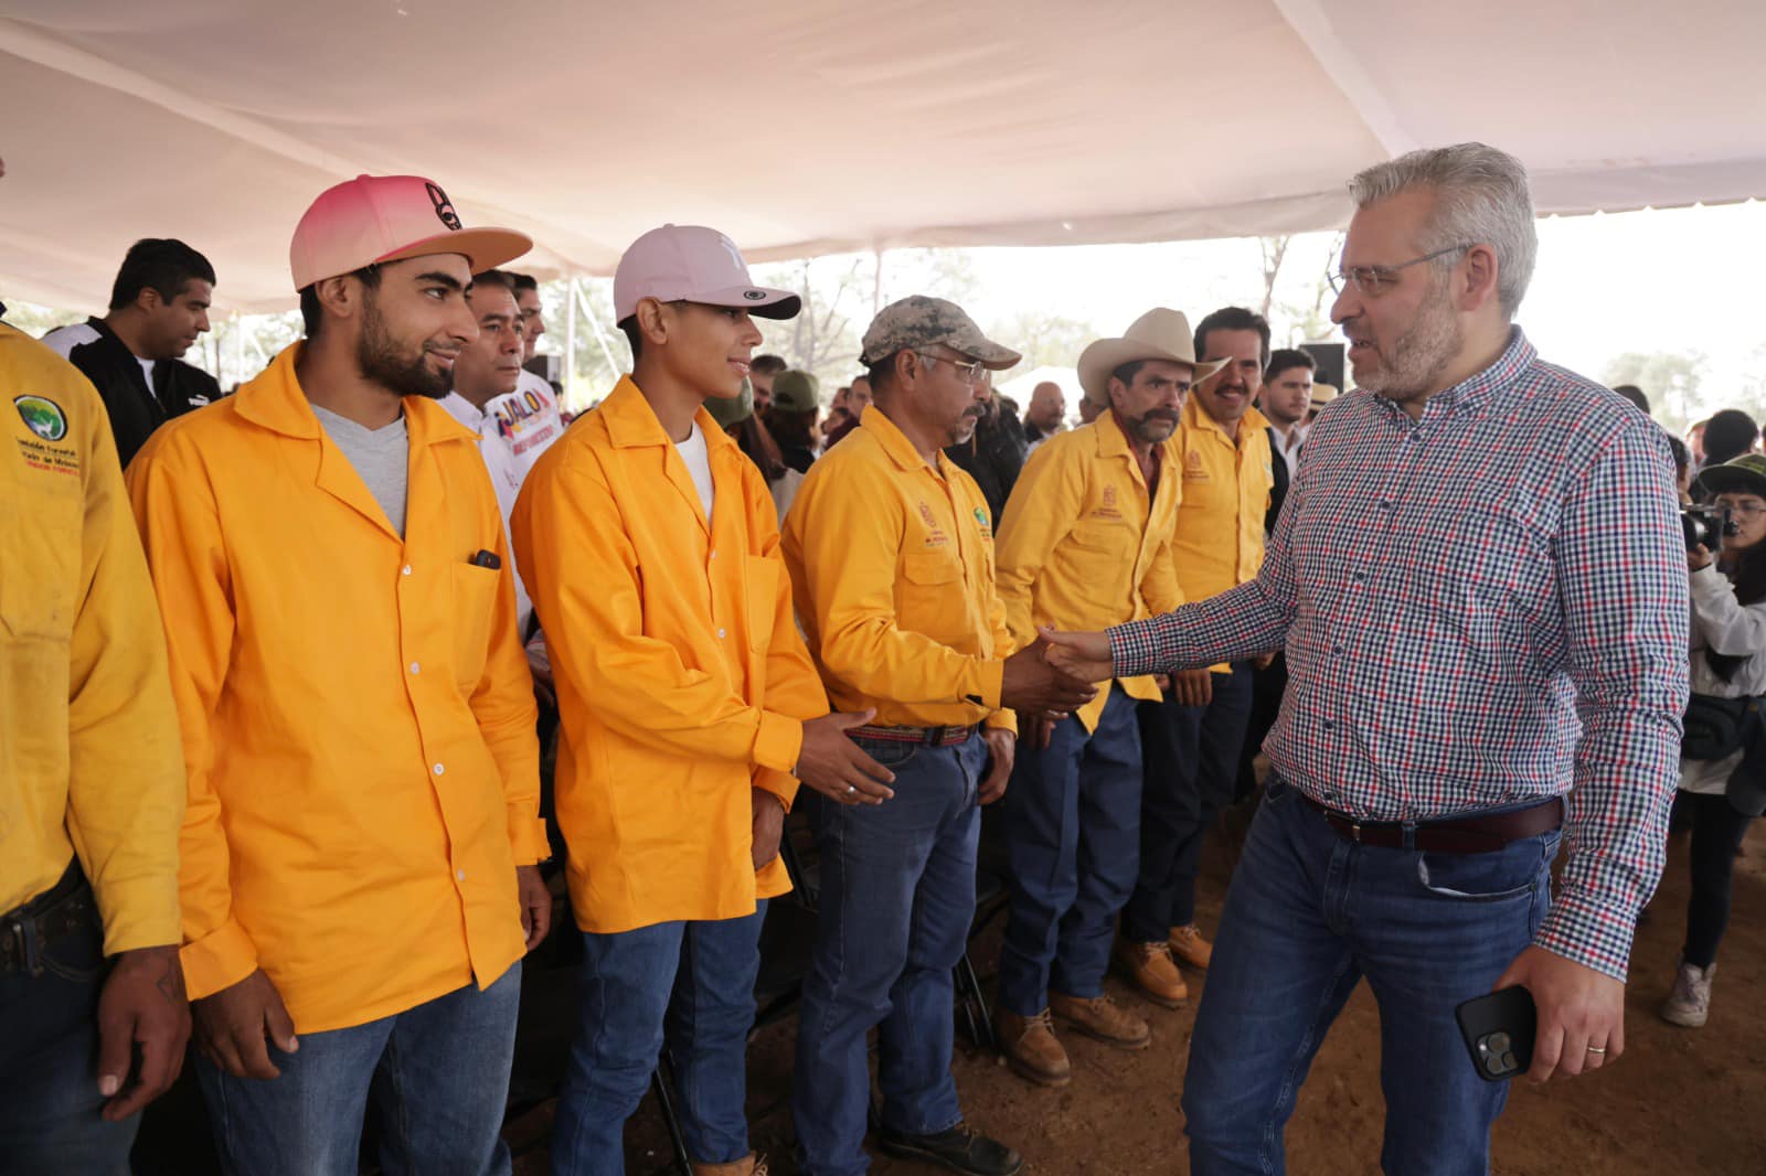
[[[434,180],[358,175],[320,192],[295,226],[288,268],[295,290],[376,261],[464,254],[472,272],[494,270],[533,247],[526,233],[466,228]]]

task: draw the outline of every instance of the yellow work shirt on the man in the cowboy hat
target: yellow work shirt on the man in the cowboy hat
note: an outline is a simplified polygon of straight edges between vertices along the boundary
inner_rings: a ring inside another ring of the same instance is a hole
[[[1183,604],[1171,558],[1178,517],[1176,433],[1162,441],[1158,486],[1148,494],[1141,463],[1116,413],[1056,433],[1030,456],[1000,528],[1000,599],[1019,646],[1037,625],[1095,632]],[[1097,727],[1109,685],[1075,715]],[[1158,699],[1151,676],[1123,678],[1128,697]]]

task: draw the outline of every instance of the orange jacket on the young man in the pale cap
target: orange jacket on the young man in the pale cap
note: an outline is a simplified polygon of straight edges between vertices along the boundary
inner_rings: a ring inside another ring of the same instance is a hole
[[[754,871],[752,789],[786,803],[828,713],[791,622],[766,479],[710,413],[712,519],[622,378],[535,463],[510,526],[558,683],[558,825],[577,927],[738,918],[791,888]]]

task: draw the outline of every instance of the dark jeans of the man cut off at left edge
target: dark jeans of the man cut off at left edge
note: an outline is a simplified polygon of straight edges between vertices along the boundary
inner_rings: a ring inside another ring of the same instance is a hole
[[[99,1118],[99,991],[104,929],[78,865],[21,911],[81,901],[78,931],[34,948],[35,966],[0,975],[0,1174],[127,1176],[141,1116]]]

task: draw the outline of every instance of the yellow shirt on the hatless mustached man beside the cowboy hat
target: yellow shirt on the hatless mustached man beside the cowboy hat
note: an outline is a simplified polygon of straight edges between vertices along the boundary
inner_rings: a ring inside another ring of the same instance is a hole
[[[1263,567],[1263,519],[1275,486],[1270,422],[1247,408],[1234,441],[1192,396],[1176,441],[1183,501],[1171,551],[1183,599],[1206,600],[1256,579]]]

